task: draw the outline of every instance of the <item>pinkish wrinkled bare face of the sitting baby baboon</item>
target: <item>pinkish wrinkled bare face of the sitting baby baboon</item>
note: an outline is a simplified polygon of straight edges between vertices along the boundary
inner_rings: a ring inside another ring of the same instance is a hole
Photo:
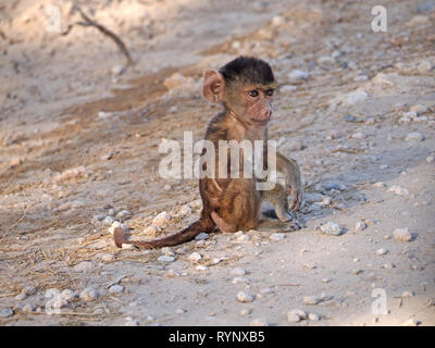
[[[265,126],[272,115],[274,89],[273,84],[235,83],[228,86],[223,101],[247,124]]]

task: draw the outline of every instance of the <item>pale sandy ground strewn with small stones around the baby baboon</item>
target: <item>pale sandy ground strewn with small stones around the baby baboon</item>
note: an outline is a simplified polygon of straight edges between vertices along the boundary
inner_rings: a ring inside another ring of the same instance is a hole
[[[371,1],[88,1],[130,50],[122,74],[95,28],[46,30],[53,3],[62,29],[77,20],[69,1],[0,4],[1,325],[435,324],[434,1],[383,1],[387,33]],[[159,144],[202,137],[202,73],[238,54],[281,84],[270,137],[301,165],[306,227],[211,234],[171,262],[116,249],[96,215],[142,238],[163,211],[157,236],[197,219],[197,182],[160,177]]]

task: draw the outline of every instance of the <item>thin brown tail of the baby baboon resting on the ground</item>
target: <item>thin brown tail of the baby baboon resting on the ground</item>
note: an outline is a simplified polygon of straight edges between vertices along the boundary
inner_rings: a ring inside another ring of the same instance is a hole
[[[123,244],[133,244],[144,249],[157,249],[162,247],[172,247],[178,244],[190,241],[201,232],[212,232],[215,227],[214,222],[207,216],[201,216],[198,221],[194,222],[190,226],[183,231],[160,239],[152,240],[127,240],[125,231],[122,227],[116,227],[113,237],[116,247],[121,248]]]

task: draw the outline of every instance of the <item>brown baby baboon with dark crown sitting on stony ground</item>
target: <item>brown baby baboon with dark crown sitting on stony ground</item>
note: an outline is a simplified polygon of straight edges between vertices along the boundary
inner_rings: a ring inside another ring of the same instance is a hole
[[[257,58],[239,57],[223,67],[207,71],[202,95],[211,102],[220,102],[224,111],[214,116],[206,133],[206,139],[215,146],[216,172],[219,169],[219,141],[256,141],[263,140],[266,163],[268,140],[266,124],[272,115],[272,99],[276,82],[271,66]],[[227,152],[228,156],[231,152]],[[243,157],[243,153],[240,158]],[[227,162],[231,159],[227,158]],[[299,166],[295,160],[286,159],[276,153],[276,170],[284,174],[285,187],[275,184],[270,190],[258,190],[260,182],[256,176],[246,178],[240,172],[239,177],[231,177],[228,166],[227,177],[203,177],[199,179],[199,191],[202,199],[200,219],[185,229],[154,240],[127,240],[124,229],[114,232],[117,247],[122,244],[134,244],[138,247],[152,249],[175,246],[194,239],[201,232],[213,232],[217,226],[224,233],[239,229],[248,231],[261,226],[271,226],[271,221],[260,222],[260,206],[264,199],[272,203],[279,221],[272,221],[274,226],[285,226],[286,231],[296,231],[300,226],[291,222],[288,212],[287,195],[291,195],[289,208],[298,210],[302,199]]]

